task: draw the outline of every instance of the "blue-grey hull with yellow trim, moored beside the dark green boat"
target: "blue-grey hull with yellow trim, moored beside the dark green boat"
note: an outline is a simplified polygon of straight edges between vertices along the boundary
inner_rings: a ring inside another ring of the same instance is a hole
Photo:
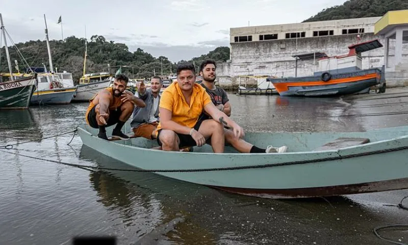
[[[34,91],[31,105],[66,105],[72,100],[77,87]]]

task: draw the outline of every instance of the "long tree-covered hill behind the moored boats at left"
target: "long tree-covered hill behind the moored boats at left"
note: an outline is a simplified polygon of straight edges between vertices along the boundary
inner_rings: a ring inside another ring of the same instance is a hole
[[[48,52],[45,41],[28,41],[16,44],[22,56],[27,60],[30,66],[43,67],[43,63],[49,69]],[[184,60],[172,63],[167,57],[153,57],[149,53],[144,52],[140,48],[131,52],[126,44],[108,41],[103,36],[94,35],[88,40],[88,57],[86,62],[86,73],[108,71],[107,66],[125,65],[122,67],[122,72],[132,78],[132,67],[135,78],[150,78],[154,75],[161,74],[163,60],[163,74],[175,72],[175,67]],[[84,54],[85,54],[85,39],[74,36],[62,40],[50,41],[51,53],[53,58],[54,71],[58,68],[59,72],[66,70],[73,74],[74,82],[78,82],[83,74]],[[8,72],[8,64],[4,48],[0,50],[1,63],[0,72]],[[14,60],[18,61],[20,72],[25,71],[25,67],[21,59],[18,58],[16,48],[9,47],[10,58],[13,63],[13,72],[17,72],[14,65]],[[216,62],[225,62],[230,59],[229,47],[217,47],[208,54],[195,57],[189,62],[195,63],[196,66],[204,59],[214,59]],[[112,70],[111,70],[112,72]]]

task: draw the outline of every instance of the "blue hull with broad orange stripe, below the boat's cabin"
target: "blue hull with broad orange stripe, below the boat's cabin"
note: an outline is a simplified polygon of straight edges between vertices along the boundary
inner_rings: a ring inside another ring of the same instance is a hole
[[[321,76],[270,79],[281,96],[338,96],[367,90],[379,84],[381,70],[367,69],[331,75],[328,81]]]

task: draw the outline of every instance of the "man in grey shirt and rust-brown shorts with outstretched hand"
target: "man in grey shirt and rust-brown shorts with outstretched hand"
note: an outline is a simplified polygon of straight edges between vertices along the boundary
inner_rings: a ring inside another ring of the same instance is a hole
[[[159,124],[159,93],[162,86],[162,79],[159,76],[151,78],[150,89],[146,89],[143,82],[138,83],[137,92],[139,98],[146,103],[146,107],[135,107],[133,110],[131,126],[136,137],[156,138],[156,129]]]

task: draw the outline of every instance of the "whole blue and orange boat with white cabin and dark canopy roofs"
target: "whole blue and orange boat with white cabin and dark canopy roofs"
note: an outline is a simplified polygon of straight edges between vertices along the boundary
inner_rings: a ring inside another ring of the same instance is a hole
[[[324,53],[293,56],[298,60],[319,58],[320,71],[310,77],[268,78],[282,96],[336,96],[368,92],[379,85],[379,92],[385,92],[384,66],[362,69],[361,53],[382,47],[378,39],[348,46],[349,53],[343,56],[327,57]],[[316,54],[318,56],[316,57]],[[297,73],[297,72],[296,72]],[[384,81],[383,81],[384,80]]]

